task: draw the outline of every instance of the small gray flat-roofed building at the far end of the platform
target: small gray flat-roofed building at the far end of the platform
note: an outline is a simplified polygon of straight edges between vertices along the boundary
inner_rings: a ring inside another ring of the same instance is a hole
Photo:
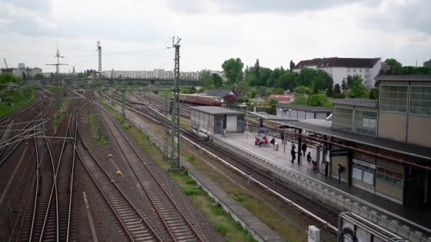
[[[191,107],[191,129],[203,134],[243,133],[243,112],[215,106]]]

